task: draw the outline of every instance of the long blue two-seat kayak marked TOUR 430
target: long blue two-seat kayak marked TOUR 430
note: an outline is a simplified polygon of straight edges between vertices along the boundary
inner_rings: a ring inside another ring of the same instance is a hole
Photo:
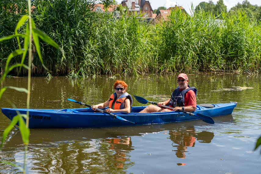
[[[194,114],[204,114],[210,117],[232,114],[236,102],[212,104],[213,107],[197,105]],[[129,114],[115,113],[126,120],[114,118],[105,113],[93,112],[91,108],[81,109],[29,109],[29,128],[83,128],[83,127],[105,127],[105,126],[127,126],[159,124],[167,122],[178,122],[196,120],[197,117],[182,112],[155,112],[138,113],[146,106],[132,107]],[[9,119],[17,115],[26,114],[27,109],[2,108],[2,113]]]

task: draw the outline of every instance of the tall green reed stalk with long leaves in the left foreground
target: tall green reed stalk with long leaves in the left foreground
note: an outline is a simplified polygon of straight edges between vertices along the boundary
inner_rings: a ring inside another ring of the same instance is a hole
[[[33,60],[33,58],[34,58],[34,55],[32,54],[32,41],[34,42],[36,52],[38,53],[38,57],[39,57],[40,62],[43,67],[45,67],[45,66],[44,66],[41,52],[40,52],[39,38],[41,38],[43,41],[49,43],[53,47],[60,49],[60,51],[63,52],[63,50],[59,47],[59,45],[57,45],[51,38],[49,38],[47,35],[42,33],[42,31],[40,31],[39,29],[36,28],[36,26],[34,24],[34,20],[32,20],[32,18],[31,18],[31,1],[30,0],[28,0],[27,5],[28,5],[28,9],[30,9],[30,10],[28,10],[28,15],[22,16],[21,19],[18,21],[18,23],[16,24],[16,27],[15,27],[15,30],[14,30],[14,34],[0,38],[0,42],[15,38],[16,45],[17,45],[16,47],[18,47],[12,53],[10,53],[6,59],[5,70],[2,74],[1,82],[5,80],[5,77],[8,75],[8,73],[11,72],[14,68],[19,68],[19,71],[21,70],[22,67],[28,70],[27,89],[13,87],[13,86],[4,86],[0,90],[0,98],[6,89],[15,89],[19,92],[27,93],[27,114],[17,113],[17,115],[15,117],[13,117],[9,126],[4,130],[1,145],[0,145],[0,150],[2,150],[3,143],[4,143],[5,138],[8,135],[8,133],[11,131],[13,126],[19,125],[22,140],[24,143],[24,167],[21,168],[20,166],[17,166],[8,161],[0,161],[0,162],[18,167],[20,170],[22,170],[23,173],[25,173],[27,145],[29,143],[29,134],[30,134],[30,130],[28,128],[29,127],[29,110],[28,109],[29,109],[29,103],[30,103],[30,89],[31,89],[31,66],[32,66],[31,60]],[[17,8],[15,10],[17,10]],[[9,13],[13,13],[13,12],[9,11]],[[20,33],[19,29],[23,25],[25,25],[25,33]],[[20,42],[20,37],[23,38],[22,46],[21,46],[21,42]],[[27,54],[28,54],[28,66],[24,64]],[[15,59],[15,57],[17,57],[17,56],[20,56],[20,58],[21,58],[20,62],[12,64],[12,60]],[[9,65],[9,63],[11,63],[11,65]],[[45,67],[45,69],[46,69],[46,67]]]

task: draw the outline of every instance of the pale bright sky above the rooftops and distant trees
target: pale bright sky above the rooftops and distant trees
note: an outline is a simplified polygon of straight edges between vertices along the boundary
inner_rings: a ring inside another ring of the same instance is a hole
[[[117,0],[119,4],[121,4],[122,0]],[[175,5],[182,6],[187,13],[191,14],[191,3],[193,3],[193,9],[200,3],[200,2],[208,2],[209,0],[148,0],[152,9],[158,9],[158,7],[173,7]],[[214,4],[217,3],[218,0],[212,0]],[[224,4],[227,5],[227,9],[229,10],[231,7],[235,6],[238,2],[242,4],[243,0],[223,0]],[[248,0],[252,5],[261,6],[261,0]]]

